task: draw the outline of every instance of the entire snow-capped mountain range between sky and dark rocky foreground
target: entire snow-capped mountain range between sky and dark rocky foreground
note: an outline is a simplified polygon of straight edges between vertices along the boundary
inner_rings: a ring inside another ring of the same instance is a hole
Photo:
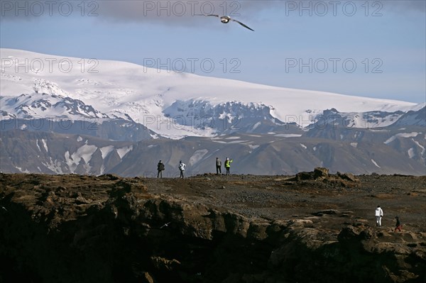
[[[426,174],[426,104],[1,49],[0,170]]]

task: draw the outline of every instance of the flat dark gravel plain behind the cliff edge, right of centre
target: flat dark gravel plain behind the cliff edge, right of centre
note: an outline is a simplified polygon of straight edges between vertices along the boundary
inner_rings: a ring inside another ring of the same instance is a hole
[[[374,210],[384,211],[383,228],[395,226],[400,216],[406,228],[426,229],[426,177],[361,175],[350,186],[321,180],[295,182],[289,176],[204,174],[186,179],[144,179],[151,194],[173,195],[195,204],[222,207],[248,218],[288,220],[312,217],[333,210],[330,228],[342,228],[351,221],[374,226]],[[294,179],[294,178],[293,178]],[[327,213],[325,213],[327,214]],[[324,223],[324,221],[322,221]]]

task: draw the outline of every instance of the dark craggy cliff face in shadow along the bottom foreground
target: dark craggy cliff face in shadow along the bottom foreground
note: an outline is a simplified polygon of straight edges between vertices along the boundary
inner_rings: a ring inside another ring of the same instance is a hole
[[[1,174],[0,282],[426,279],[425,233],[379,230],[351,211],[249,218],[189,195],[153,193],[142,178],[22,176]],[[332,218],[346,225],[322,225]]]

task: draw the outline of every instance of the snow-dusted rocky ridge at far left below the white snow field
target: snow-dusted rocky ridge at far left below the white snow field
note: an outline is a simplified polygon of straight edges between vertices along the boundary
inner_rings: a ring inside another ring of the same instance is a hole
[[[50,89],[55,91],[55,89]],[[47,92],[50,92],[47,91]],[[78,99],[45,92],[0,96],[0,129],[92,135],[107,140],[156,138],[140,123],[108,116]]]

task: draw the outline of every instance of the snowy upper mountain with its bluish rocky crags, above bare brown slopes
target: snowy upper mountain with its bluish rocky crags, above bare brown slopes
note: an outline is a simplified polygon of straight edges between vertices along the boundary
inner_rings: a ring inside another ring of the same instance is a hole
[[[33,111],[34,114],[56,116],[59,113],[71,119],[76,119],[75,115],[119,117],[141,123],[151,131],[170,138],[229,133],[229,127],[236,124],[249,131],[246,123],[255,120],[253,125],[260,122],[255,129],[262,123],[267,123],[271,129],[284,123],[306,127],[315,123],[315,116],[332,108],[341,113],[386,111],[390,113],[390,117],[386,118],[386,123],[389,123],[418,107],[404,101],[270,87],[168,72],[128,62],[60,57],[11,49],[1,49],[0,52],[1,96],[48,94],[56,99],[73,99],[72,103],[81,102],[72,111],[67,110],[64,102],[53,104],[49,109],[44,106],[43,112]],[[28,107],[13,108],[13,111],[4,101],[5,98],[1,101],[1,108],[7,109],[8,116],[19,116],[23,110],[31,112]],[[7,101],[10,99],[7,98]],[[37,105],[33,101],[31,106],[34,104]],[[2,118],[7,118],[3,112],[2,115]],[[386,119],[381,115],[377,114],[380,123],[371,123],[371,116],[362,115],[356,117],[356,123],[383,126]],[[255,129],[251,128],[251,131]]]

